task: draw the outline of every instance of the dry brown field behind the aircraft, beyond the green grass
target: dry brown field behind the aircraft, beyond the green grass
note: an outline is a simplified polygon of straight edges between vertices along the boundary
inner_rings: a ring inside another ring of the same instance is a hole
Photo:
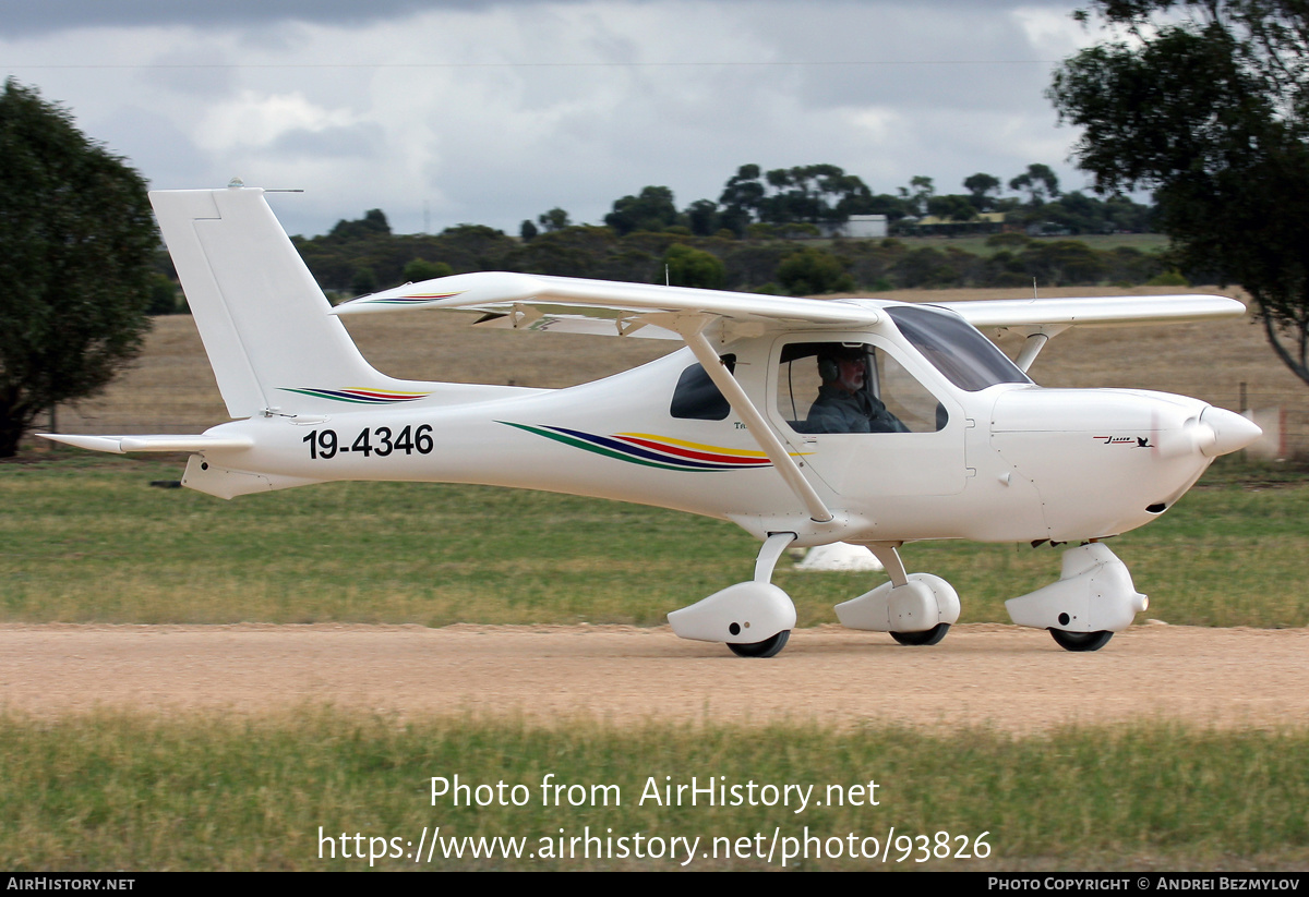
[[[1042,296],[1161,294],[1177,288],[1068,288]],[[1199,288],[1195,293],[1236,290]],[[945,302],[1014,298],[1013,290],[902,290],[885,298]],[[583,383],[677,348],[664,340],[615,340],[552,333],[483,332],[473,316],[414,311],[347,318],[364,354],[394,377],[559,387]],[[1016,344],[1001,340],[1011,354]],[[1240,411],[1241,384],[1250,408],[1283,407],[1292,454],[1309,454],[1309,387],[1272,354],[1253,319],[1175,327],[1069,331],[1045,349],[1031,370],[1045,386],[1118,386],[1195,396]],[[192,433],[228,420],[213,374],[188,316],[156,318],[143,357],[101,396],[60,408],[65,433]],[[43,429],[43,428],[42,428]],[[39,441],[37,441],[39,442]],[[39,450],[39,448],[38,448]]]

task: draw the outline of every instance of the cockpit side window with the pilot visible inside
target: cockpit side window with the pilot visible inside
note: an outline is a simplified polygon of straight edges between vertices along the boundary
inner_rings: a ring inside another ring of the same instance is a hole
[[[945,408],[894,356],[864,343],[791,343],[778,413],[796,433],[933,433]]]

